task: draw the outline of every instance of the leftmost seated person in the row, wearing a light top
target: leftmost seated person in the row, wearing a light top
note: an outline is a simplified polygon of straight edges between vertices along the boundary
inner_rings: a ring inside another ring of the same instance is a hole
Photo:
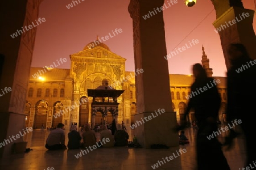
[[[45,147],[48,150],[61,150],[67,149],[65,146],[65,131],[64,124],[59,123],[55,130],[49,134]]]

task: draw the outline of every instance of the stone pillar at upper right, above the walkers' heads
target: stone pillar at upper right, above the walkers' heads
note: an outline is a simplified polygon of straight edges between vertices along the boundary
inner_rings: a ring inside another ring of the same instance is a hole
[[[212,0],[212,2],[217,18],[213,25],[216,29],[221,29],[215,31],[220,35],[227,69],[230,67],[227,52],[230,43],[242,43],[246,46],[250,57],[256,59],[256,36],[253,29],[254,11],[245,9],[241,1],[233,0],[230,3],[229,0]]]

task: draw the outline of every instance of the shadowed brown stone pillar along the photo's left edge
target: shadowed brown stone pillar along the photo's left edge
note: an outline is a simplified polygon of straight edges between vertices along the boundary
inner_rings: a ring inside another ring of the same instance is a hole
[[[1,62],[0,66],[0,88],[11,88],[11,91],[4,95],[1,92],[3,96],[0,97],[1,142],[10,139],[9,136],[19,134],[25,128],[26,114],[23,114],[23,109],[26,103],[36,29],[40,25],[25,33],[19,33],[20,35],[18,34],[17,37],[10,35],[13,35],[17,29],[20,30],[38,19],[38,9],[41,2],[42,0],[36,1],[36,3],[34,0],[1,2],[2,15],[8,17],[0,20],[1,25],[4,25],[0,28],[0,56],[4,57],[4,62]],[[0,158],[10,156],[13,144],[21,141],[22,138],[18,138],[1,147]]]

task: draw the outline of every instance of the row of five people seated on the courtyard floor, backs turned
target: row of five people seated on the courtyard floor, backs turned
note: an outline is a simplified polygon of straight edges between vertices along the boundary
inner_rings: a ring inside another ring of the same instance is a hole
[[[124,130],[117,130],[115,134],[112,135],[112,131],[107,128],[107,126],[102,126],[100,132],[100,141],[97,141],[96,133],[94,130],[91,130],[90,125],[87,124],[84,126],[84,131],[80,135],[77,131],[77,125],[71,126],[71,131],[68,133],[68,148],[69,149],[79,149],[79,148],[88,148],[89,146],[101,145],[102,147],[114,147],[114,146],[127,146],[129,135]],[[108,142],[101,142],[102,139],[109,138]],[[83,142],[81,142],[81,139]],[[46,146],[48,150],[59,150],[67,149],[65,146],[65,131],[64,124],[58,124],[55,130],[52,130],[49,134]]]

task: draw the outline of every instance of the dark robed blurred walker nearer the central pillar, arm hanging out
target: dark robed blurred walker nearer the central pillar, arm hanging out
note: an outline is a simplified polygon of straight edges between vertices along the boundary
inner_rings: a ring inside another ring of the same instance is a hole
[[[191,94],[188,107],[183,116],[183,125],[185,127],[186,117],[191,109],[195,111],[197,120],[196,154],[198,170],[230,170],[228,162],[222,152],[221,143],[216,137],[208,139],[207,137],[217,130],[217,117],[220,109],[221,98],[218,94],[217,82],[213,78],[208,78],[206,71],[200,63],[192,67],[195,82],[191,86]],[[214,85],[214,84],[213,84]],[[205,87],[206,88],[205,90]],[[201,90],[204,89],[202,92]],[[180,130],[180,129],[179,129]]]

